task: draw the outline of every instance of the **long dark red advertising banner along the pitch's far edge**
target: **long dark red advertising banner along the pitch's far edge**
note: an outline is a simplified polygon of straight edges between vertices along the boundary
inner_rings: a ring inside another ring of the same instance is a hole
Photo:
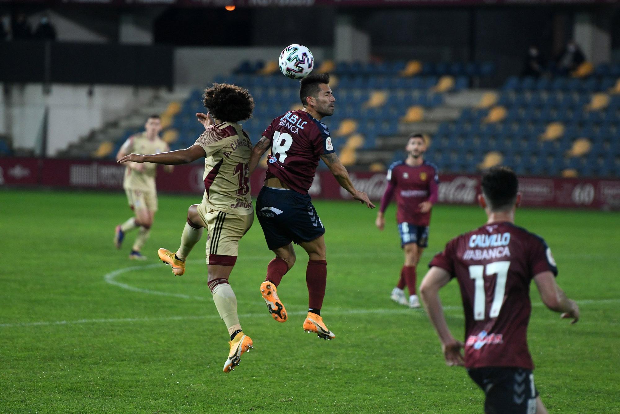
[[[170,174],[160,169],[157,190],[190,193],[204,191],[203,164],[175,166]],[[0,188],[7,186],[46,186],[76,189],[122,189],[125,167],[113,161],[38,160],[36,158],[0,158]],[[379,200],[386,188],[385,173],[351,172],[357,189]],[[252,196],[256,196],[265,179],[265,169],[252,174]],[[533,178],[519,179],[525,207],[564,207],[620,209],[620,179]],[[480,177],[441,174],[438,199],[446,204],[476,204]],[[317,171],[309,191],[313,199],[349,200],[329,171]]]

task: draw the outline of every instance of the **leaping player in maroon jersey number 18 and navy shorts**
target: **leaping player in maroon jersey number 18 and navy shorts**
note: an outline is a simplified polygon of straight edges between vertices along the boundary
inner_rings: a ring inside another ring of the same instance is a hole
[[[267,277],[260,285],[272,317],[286,321],[286,309],[277,294],[282,277],[295,263],[296,243],[308,253],[306,284],[308,285],[308,317],[303,328],[319,338],[331,340],[334,333],[327,329],[321,317],[321,307],[327,282],[325,228],[319,218],[308,190],[321,158],[340,186],[353,199],[374,208],[363,191],[357,191],[332,145],[323,117],[334,114],[334,94],[329,88],[329,74],[311,74],[301,79],[299,97],[301,110],[290,110],[273,120],[254,146],[250,158],[250,173],[269,148],[265,186],[256,200],[256,215],[265,240],[276,257],[267,266]]]

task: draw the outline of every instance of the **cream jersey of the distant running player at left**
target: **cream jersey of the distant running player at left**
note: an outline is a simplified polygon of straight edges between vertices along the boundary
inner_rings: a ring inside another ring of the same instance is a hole
[[[146,138],[146,132],[131,135],[122,146],[126,154],[157,154],[169,151],[168,144],[159,137],[154,140]],[[156,191],[155,176],[157,164],[142,163],[143,171],[136,171],[133,168],[125,169],[123,188],[136,191]]]

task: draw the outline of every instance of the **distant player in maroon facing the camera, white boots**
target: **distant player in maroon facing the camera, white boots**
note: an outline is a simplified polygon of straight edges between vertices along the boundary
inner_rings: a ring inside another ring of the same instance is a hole
[[[405,150],[407,159],[397,161],[387,170],[387,188],[374,223],[379,230],[383,230],[386,223],[384,212],[396,194],[396,221],[401,234],[401,248],[405,252],[405,264],[390,297],[401,305],[419,308],[420,300],[415,294],[415,266],[428,246],[430,210],[437,201],[439,178],[436,166],[424,161],[427,140],[422,134],[410,135]],[[405,298],[405,284],[409,288],[409,300]]]

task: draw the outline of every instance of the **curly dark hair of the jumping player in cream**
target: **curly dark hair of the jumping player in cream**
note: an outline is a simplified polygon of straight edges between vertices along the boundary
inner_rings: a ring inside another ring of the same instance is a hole
[[[203,103],[213,118],[239,122],[252,117],[254,98],[247,89],[227,83],[214,83],[205,89]]]

